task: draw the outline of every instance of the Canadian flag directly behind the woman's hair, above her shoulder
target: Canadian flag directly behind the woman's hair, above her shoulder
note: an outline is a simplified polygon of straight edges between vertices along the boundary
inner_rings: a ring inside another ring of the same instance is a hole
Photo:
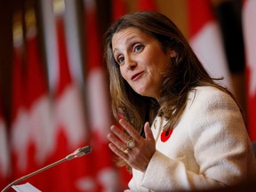
[[[232,91],[220,26],[211,0],[188,0],[188,26],[189,43],[206,71],[214,78],[224,77],[221,84]]]

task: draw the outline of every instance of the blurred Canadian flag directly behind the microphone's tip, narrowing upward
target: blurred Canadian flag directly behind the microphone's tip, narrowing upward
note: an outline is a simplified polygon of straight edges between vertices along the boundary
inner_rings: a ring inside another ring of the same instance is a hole
[[[89,144],[82,94],[69,73],[63,18],[56,16],[59,79],[54,92],[54,139],[52,161],[66,156],[70,151]],[[94,150],[94,149],[93,149]],[[91,154],[90,154],[91,155]],[[94,191],[93,167],[89,156],[58,166],[52,170],[54,190]],[[56,180],[58,178],[58,180]]]

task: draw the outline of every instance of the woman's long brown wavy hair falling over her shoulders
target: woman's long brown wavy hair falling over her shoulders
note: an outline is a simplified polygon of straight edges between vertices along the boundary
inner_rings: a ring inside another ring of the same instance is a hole
[[[170,59],[169,68],[162,78],[159,100],[134,92],[121,76],[119,65],[112,52],[112,37],[124,28],[138,28],[156,38],[164,52],[172,49],[177,53],[175,58]],[[116,119],[120,115],[124,116],[142,136],[144,136],[145,122],[152,124],[156,116],[164,116],[167,119],[164,129],[175,127],[186,107],[188,92],[196,86],[210,85],[228,92],[215,81],[223,78],[212,78],[208,75],[180,29],[172,20],[159,12],[142,11],[125,14],[108,28],[105,34],[104,53],[108,66],[113,115]],[[228,94],[231,95],[230,92]],[[234,99],[232,95],[231,97]]]

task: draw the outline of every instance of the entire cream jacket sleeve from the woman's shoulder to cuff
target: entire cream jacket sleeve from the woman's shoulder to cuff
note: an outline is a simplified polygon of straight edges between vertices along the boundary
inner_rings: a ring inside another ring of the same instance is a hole
[[[184,160],[156,151],[143,174],[142,186],[153,191],[203,190],[246,180],[254,156],[236,102],[225,92],[199,90],[186,113],[188,142],[199,173],[188,171]]]

